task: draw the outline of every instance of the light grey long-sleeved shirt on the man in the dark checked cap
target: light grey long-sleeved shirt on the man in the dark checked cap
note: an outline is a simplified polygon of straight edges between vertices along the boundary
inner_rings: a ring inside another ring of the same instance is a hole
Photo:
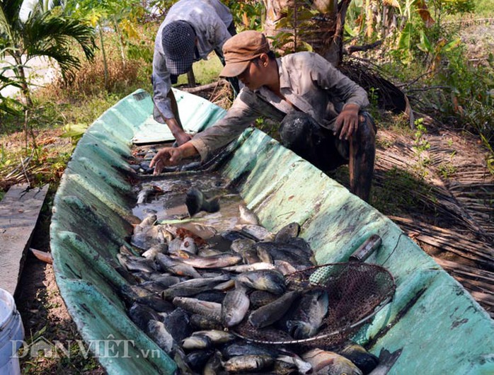
[[[212,50],[221,51],[224,42],[231,35],[227,28],[233,21],[233,16],[219,0],[180,0],[168,10],[166,18],[161,23],[154,41],[153,57],[153,91],[154,91],[154,120],[163,123],[160,113],[165,118],[173,118],[170,99],[166,96],[171,89],[170,72],[166,69],[161,31],[173,21],[186,21],[197,36],[197,52],[194,61],[207,59]],[[156,108],[157,107],[157,108]]]

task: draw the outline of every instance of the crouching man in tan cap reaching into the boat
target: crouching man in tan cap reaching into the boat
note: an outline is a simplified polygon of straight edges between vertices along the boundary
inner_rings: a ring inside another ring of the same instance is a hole
[[[312,52],[276,59],[265,35],[253,30],[223,46],[226,65],[220,76],[245,85],[226,116],[175,149],[161,149],[151,161],[163,166],[199,154],[202,160],[236,139],[258,117],[280,122],[284,146],[323,171],[349,164],[350,189],[369,200],[374,171],[375,126],[363,109],[364,89]]]

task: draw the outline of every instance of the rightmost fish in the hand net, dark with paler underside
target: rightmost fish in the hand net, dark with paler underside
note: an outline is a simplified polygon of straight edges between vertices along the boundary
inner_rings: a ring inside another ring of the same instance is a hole
[[[328,292],[311,290],[302,296],[294,316],[287,321],[288,333],[297,340],[316,335],[328,313]]]

